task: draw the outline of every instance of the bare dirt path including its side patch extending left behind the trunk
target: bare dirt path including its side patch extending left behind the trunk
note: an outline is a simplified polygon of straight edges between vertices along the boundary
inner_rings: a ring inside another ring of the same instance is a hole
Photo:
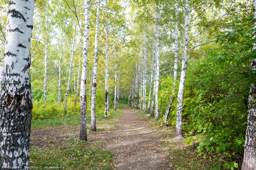
[[[151,119],[140,117],[135,108],[124,106],[123,110],[116,130],[89,132],[88,144],[96,143],[115,154],[113,170],[171,169],[162,148],[165,135],[149,125]],[[39,148],[65,145],[70,135],[79,138],[79,128],[32,129],[30,144]]]

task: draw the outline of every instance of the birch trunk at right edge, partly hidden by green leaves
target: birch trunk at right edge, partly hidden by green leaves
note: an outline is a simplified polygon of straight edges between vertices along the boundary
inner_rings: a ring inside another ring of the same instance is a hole
[[[253,8],[253,29],[256,28],[256,0],[254,0]],[[255,39],[255,32],[253,33]],[[253,44],[252,51],[256,49],[256,44]],[[251,70],[256,71],[256,59],[251,61]],[[248,98],[248,115],[247,115],[247,127],[245,134],[245,154],[242,162],[242,170],[255,170],[256,169],[256,85],[251,84]]]

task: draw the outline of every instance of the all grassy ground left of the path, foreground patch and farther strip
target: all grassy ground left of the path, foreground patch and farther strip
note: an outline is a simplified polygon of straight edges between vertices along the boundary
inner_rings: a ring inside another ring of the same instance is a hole
[[[121,106],[122,107],[122,106]],[[108,118],[97,116],[97,130],[115,130],[117,119],[123,115],[123,110],[118,108],[115,112],[110,110]],[[90,131],[91,116],[87,113],[87,130]],[[80,114],[56,117],[31,122],[33,130],[51,129],[52,127],[77,127],[80,126]],[[53,147],[30,148],[30,166],[39,169],[72,169],[72,170],[108,170],[113,162],[113,153],[102,150],[96,144],[89,144],[71,136],[62,145],[53,144]]]

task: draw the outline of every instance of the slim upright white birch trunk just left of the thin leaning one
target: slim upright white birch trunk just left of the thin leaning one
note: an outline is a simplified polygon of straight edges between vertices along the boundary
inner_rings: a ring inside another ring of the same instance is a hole
[[[158,20],[159,20],[159,11],[158,11],[158,5],[156,7],[156,119],[159,120],[159,105],[158,105],[158,89],[159,89],[159,73],[160,73],[160,26],[158,24]]]

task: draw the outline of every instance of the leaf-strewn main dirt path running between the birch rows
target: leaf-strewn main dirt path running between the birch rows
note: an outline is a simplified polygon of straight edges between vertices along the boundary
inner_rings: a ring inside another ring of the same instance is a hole
[[[96,132],[88,141],[101,141],[102,149],[115,154],[114,170],[166,170],[170,163],[162,148],[164,134],[150,125],[151,119],[139,116],[135,108],[124,106],[123,110],[116,130]]]

